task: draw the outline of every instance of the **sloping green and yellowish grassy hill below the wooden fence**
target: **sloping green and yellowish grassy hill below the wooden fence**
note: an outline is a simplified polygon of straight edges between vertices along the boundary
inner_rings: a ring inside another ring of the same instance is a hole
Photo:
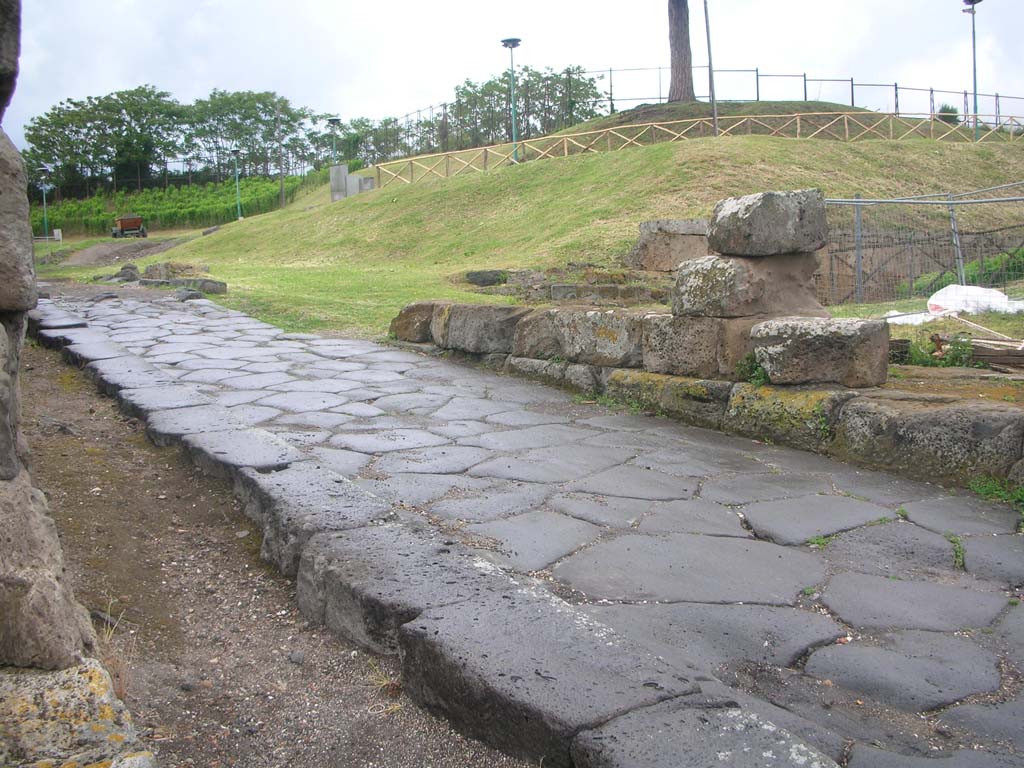
[[[641,221],[707,216],[734,195],[817,186],[888,198],[1020,178],[1024,152],[1014,144],[694,139],[392,184],[334,204],[324,188],[151,260],[209,264],[229,284],[228,303],[290,329],[373,336],[417,299],[504,300],[468,291],[458,282],[467,269],[615,265]],[[983,223],[978,208],[963,226]]]

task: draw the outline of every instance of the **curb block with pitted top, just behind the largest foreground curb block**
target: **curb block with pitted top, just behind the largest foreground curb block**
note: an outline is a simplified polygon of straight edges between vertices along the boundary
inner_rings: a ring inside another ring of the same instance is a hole
[[[309,542],[298,595],[311,621],[365,648],[395,653],[399,627],[423,611],[513,587],[499,569],[429,526],[385,523]]]

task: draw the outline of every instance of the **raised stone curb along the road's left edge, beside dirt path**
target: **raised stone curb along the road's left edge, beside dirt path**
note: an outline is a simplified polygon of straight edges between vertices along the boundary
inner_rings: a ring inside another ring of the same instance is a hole
[[[364,647],[398,652],[413,699],[460,730],[545,766],[572,766],[582,732],[614,727],[659,702],[757,718],[723,697],[710,675],[694,669],[681,676],[542,587],[520,584],[419,518],[395,514],[272,433],[236,428],[198,389],[169,384],[103,334],[77,324],[47,328],[51,315],[74,322],[50,307],[41,302],[37,310],[40,343],[86,367],[99,391],[146,422],[155,442],[178,444],[205,473],[231,480],[263,530],[263,556],[296,578],[303,614]],[[716,693],[702,693],[701,683]],[[700,729],[687,732],[696,737]],[[736,729],[719,736],[735,750],[750,741]],[[652,745],[628,723],[615,736],[627,750],[636,739],[663,761],[651,765],[674,759],[671,739]],[[594,762],[589,750],[577,750],[575,764],[634,765]],[[820,758],[807,765],[836,764]]]

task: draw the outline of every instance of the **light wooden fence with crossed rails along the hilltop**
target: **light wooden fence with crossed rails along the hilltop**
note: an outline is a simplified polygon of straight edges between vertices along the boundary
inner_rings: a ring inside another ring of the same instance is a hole
[[[979,115],[978,141],[1021,141],[1024,118],[1000,116],[999,125],[985,120],[994,116]],[[965,116],[973,122],[974,116]],[[834,141],[885,140],[975,141],[973,125],[955,124],[934,115],[895,115],[878,112],[807,113],[800,115],[751,115],[719,118],[720,136],[778,136],[796,139]],[[683,141],[714,135],[711,118],[677,120],[668,123],[642,123],[615,126],[583,133],[568,133],[542,138],[522,139],[474,150],[420,155],[374,166],[377,187],[401,182],[411,184],[428,178],[451,178],[462,173],[486,171],[503,165],[532,162],[547,158],[567,158],[596,152],[618,152],[631,146],[649,146],[666,141]]]

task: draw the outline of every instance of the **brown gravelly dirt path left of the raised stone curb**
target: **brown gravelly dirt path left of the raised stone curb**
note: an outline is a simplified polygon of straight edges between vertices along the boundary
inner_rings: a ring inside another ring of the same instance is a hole
[[[401,693],[397,666],[306,626],[226,483],[156,449],[31,342],[24,426],[79,599],[164,768],[524,766]],[[120,620],[120,621],[119,621]]]

